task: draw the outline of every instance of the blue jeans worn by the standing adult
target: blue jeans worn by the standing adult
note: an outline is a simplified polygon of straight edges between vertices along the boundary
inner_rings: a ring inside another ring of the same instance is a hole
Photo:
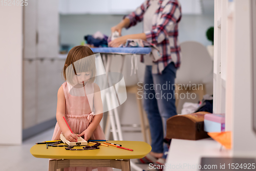
[[[152,152],[168,152],[167,144],[163,144],[166,135],[166,120],[177,115],[175,106],[176,68],[171,62],[162,74],[152,74],[152,66],[146,66],[144,76],[144,110],[150,124]]]

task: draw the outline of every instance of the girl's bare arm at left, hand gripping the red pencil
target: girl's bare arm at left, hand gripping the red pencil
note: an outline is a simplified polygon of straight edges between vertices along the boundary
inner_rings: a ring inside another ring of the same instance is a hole
[[[64,134],[65,138],[70,142],[74,142],[77,140],[77,136],[70,132],[68,125],[63,119],[63,116],[65,117],[65,115],[66,115],[66,100],[63,92],[63,87],[61,86],[58,90],[56,119],[60,127],[60,130]]]

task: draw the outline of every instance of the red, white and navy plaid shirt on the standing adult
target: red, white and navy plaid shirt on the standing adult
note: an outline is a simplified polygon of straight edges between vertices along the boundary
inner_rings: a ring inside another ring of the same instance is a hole
[[[146,40],[156,45],[160,57],[155,59],[152,66],[152,73],[162,73],[164,68],[174,62],[175,67],[180,66],[180,46],[178,42],[178,24],[181,20],[181,6],[178,0],[160,0],[160,7],[156,10],[153,19],[152,30],[145,32]],[[129,15],[124,16],[130,19],[130,25],[135,26],[143,20],[143,15],[151,5],[151,0],[146,0],[140,7]],[[143,58],[141,58],[143,62]]]

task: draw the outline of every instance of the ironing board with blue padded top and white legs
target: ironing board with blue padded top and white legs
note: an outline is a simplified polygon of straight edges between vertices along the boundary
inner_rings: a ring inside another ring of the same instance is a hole
[[[124,56],[125,55],[145,55],[145,54],[149,54],[151,52],[151,48],[91,48],[92,51],[94,53],[100,53],[102,54],[102,59],[103,59],[103,64],[105,67],[105,72],[108,74],[110,72],[110,65],[111,65],[111,60],[112,60],[112,55],[121,55],[121,68],[119,71],[119,73],[122,73],[122,69],[123,69],[123,65],[124,65]],[[108,103],[108,105],[112,105],[110,103],[111,101],[111,96],[112,98],[114,97],[114,95],[109,95],[106,94],[106,102]],[[115,100],[112,100],[115,101]],[[114,111],[114,113],[113,113]],[[114,140],[119,140],[122,141],[123,140],[123,136],[122,136],[122,131],[121,131],[121,124],[120,124],[120,119],[119,119],[119,115],[118,115],[118,111],[117,108],[114,108],[112,110],[109,111],[109,117],[110,117],[110,124],[112,127],[112,133],[113,133],[113,138]],[[117,135],[118,133],[118,135]],[[110,125],[107,123],[106,124],[106,131],[105,131],[105,137],[106,139],[109,139],[110,136]],[[131,162],[131,167],[133,167],[136,170],[142,170],[140,167],[138,167],[137,165],[135,165],[133,162]]]

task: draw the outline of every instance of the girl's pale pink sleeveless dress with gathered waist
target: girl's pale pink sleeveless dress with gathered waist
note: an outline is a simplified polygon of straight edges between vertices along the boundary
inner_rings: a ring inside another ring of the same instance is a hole
[[[94,97],[94,83],[85,86],[84,88],[75,89],[70,86],[66,81],[62,84],[63,92],[66,99],[66,119],[67,122],[75,134],[81,134],[87,129],[93,119],[93,97]],[[55,125],[52,140],[60,140],[61,134],[58,122]],[[105,135],[100,125],[98,125],[95,131],[92,133],[91,140],[105,139]],[[82,152],[82,151],[81,151]],[[89,171],[89,170],[113,170],[109,167],[69,167],[64,170],[67,171]]]

